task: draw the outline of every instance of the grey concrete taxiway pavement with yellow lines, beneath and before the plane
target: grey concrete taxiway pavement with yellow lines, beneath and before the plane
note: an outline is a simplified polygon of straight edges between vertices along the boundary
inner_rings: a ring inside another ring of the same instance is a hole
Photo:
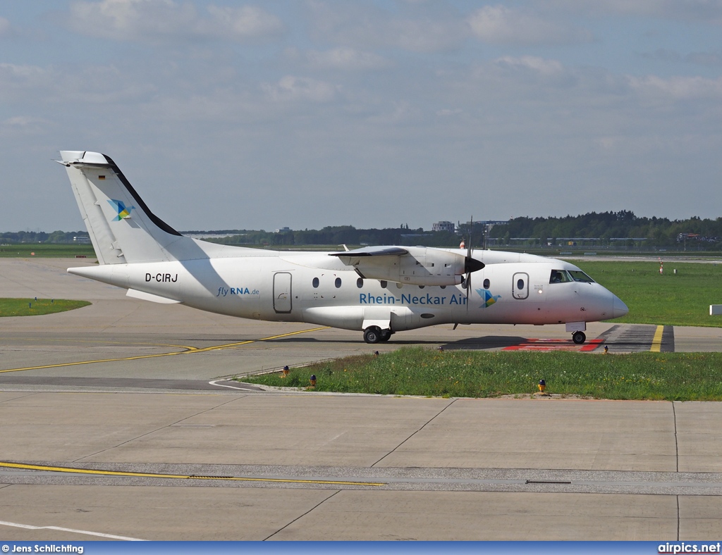
[[[722,405],[271,393],[225,382],[399,345],[570,347],[563,327],[360,333],[135,301],[0,260],[0,534],[14,540],[703,540],[722,529]],[[590,324],[610,350],[722,330]],[[398,338],[398,339],[397,339]],[[599,343],[602,345],[603,343]],[[3,464],[4,463],[4,464]]]

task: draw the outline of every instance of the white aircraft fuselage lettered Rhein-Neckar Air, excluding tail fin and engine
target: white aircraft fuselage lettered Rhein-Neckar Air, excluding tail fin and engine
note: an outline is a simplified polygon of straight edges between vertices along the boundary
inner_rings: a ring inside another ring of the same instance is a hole
[[[529,255],[474,253],[486,266],[472,275],[467,300],[463,285],[360,278],[327,253],[264,254],[69,272],[217,314],[355,330],[364,329],[364,322],[383,320],[391,322],[393,332],[449,323],[564,324],[612,319],[622,315],[624,306],[598,283],[550,283],[552,270],[578,268]],[[493,262],[503,255],[521,256],[523,262]]]

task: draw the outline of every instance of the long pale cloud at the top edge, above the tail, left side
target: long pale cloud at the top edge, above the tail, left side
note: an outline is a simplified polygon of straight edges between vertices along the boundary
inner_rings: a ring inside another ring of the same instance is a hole
[[[233,40],[242,42],[277,35],[282,22],[255,6],[207,7],[207,15],[193,4],[173,0],[75,1],[70,6],[69,25],[92,37],[113,40]]]

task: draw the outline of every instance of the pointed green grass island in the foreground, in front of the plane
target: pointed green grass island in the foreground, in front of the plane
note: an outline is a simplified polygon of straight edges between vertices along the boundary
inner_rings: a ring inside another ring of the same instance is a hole
[[[722,353],[591,355],[575,352],[431,351],[405,347],[281,373],[238,378],[316,391],[441,397],[547,393],[595,399],[722,400]]]

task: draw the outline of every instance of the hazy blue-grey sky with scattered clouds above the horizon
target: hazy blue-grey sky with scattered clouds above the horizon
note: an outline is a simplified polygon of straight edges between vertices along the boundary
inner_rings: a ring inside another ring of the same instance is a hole
[[[0,2],[0,231],[60,150],[176,229],[722,216],[722,0]]]

